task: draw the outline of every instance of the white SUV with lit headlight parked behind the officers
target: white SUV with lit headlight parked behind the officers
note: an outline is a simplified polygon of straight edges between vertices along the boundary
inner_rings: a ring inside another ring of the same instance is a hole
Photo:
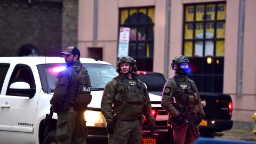
[[[94,59],[80,60],[89,72],[92,85],[92,101],[85,111],[88,142],[103,143],[102,139],[107,142],[106,121],[100,112],[100,102],[105,85],[118,74],[110,63]],[[45,115],[50,112],[50,99],[57,74],[65,66],[65,60],[59,57],[0,58],[1,143],[57,143],[57,114],[53,114],[46,136],[46,125],[43,122]],[[156,132],[166,133],[170,125],[167,124],[168,116],[160,105],[161,97],[153,94],[149,96],[155,109],[155,128],[160,128]]]

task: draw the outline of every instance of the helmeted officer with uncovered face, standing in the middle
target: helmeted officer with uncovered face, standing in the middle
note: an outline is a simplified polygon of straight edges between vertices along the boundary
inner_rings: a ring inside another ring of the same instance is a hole
[[[108,143],[141,144],[143,117],[154,131],[155,118],[151,115],[151,102],[144,83],[133,73],[136,61],[128,56],[117,62],[119,75],[105,86],[101,111],[107,121]]]

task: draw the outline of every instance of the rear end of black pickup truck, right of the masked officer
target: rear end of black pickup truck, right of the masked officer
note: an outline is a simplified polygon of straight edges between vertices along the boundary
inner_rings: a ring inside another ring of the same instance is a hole
[[[204,105],[205,119],[199,125],[201,135],[214,137],[218,132],[230,130],[233,103],[230,95],[221,93],[199,93]]]

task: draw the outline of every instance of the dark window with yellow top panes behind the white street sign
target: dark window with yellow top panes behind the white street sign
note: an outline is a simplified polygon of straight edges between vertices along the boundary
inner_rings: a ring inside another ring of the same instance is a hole
[[[118,52],[122,49],[122,54],[125,53],[141,63],[140,70],[153,71],[154,25],[155,7],[153,6],[119,9],[119,34],[121,27],[125,27],[130,31],[129,36],[127,35],[130,38],[128,44],[121,45],[122,42],[118,42]],[[119,53],[117,57],[120,57]]]

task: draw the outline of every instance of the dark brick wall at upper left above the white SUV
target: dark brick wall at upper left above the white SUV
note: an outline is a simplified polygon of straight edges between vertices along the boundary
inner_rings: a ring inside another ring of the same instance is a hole
[[[0,57],[17,56],[27,44],[40,55],[59,56],[61,30],[61,1],[0,2]]]

